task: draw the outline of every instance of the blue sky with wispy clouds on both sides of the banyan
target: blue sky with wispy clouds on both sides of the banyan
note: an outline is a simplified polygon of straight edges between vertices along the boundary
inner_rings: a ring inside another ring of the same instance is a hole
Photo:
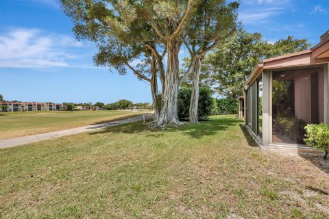
[[[269,42],[292,35],[313,45],[329,29],[328,0],[241,0],[239,18]],[[151,101],[150,88],[93,66],[92,42],[79,42],[57,0],[0,0],[0,94],[19,101]],[[184,53],[182,53],[184,55]]]

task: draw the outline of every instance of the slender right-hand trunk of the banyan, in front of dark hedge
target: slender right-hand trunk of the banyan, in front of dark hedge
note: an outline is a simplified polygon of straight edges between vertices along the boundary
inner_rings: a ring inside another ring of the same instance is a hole
[[[190,102],[190,109],[188,110],[188,117],[190,123],[198,123],[197,121],[197,107],[199,102],[199,77],[201,73],[201,64],[202,64],[203,57],[198,57],[197,60],[194,62],[193,68],[193,83],[192,83],[192,90],[191,90],[191,102]]]

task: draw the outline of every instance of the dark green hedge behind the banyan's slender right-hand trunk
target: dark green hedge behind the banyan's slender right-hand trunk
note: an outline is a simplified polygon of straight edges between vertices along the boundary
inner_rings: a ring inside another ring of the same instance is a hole
[[[212,90],[206,87],[199,88],[197,106],[198,120],[207,120],[212,113]],[[178,92],[178,118],[188,119],[188,110],[191,102],[191,88],[182,87]]]

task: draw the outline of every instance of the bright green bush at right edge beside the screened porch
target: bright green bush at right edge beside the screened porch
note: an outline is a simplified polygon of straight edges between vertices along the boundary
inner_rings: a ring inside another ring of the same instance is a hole
[[[324,159],[328,155],[329,147],[329,124],[308,124],[305,127],[306,135],[304,141],[307,146],[312,146],[324,151]]]

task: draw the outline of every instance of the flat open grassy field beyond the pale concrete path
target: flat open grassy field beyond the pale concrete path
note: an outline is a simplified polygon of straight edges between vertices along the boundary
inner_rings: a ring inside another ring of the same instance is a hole
[[[45,111],[0,113],[0,139],[29,136],[132,117],[131,110],[105,111]]]

